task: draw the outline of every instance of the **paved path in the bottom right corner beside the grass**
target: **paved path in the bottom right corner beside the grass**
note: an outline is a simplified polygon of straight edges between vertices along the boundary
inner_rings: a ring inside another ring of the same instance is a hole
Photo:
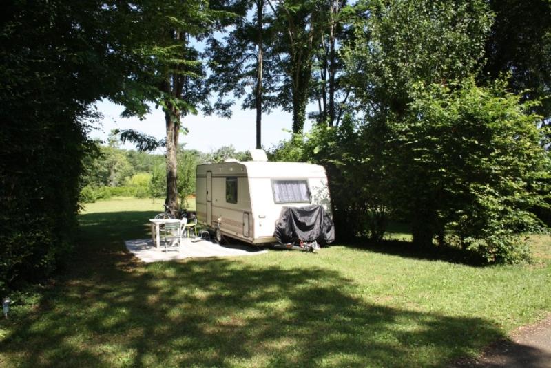
[[[510,340],[495,343],[479,358],[463,360],[453,367],[551,368],[551,315],[517,329]]]

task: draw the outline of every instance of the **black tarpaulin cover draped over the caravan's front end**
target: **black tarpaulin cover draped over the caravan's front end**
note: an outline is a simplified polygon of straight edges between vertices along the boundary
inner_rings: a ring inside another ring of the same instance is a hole
[[[283,244],[298,240],[329,244],[335,240],[335,228],[322,206],[284,207],[274,235]]]

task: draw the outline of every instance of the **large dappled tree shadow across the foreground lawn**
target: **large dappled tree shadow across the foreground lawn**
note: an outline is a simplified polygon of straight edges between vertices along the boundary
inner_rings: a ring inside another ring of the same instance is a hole
[[[0,350],[26,367],[410,367],[503,337],[481,318],[365,303],[351,280],[324,269],[228,259],[127,266],[68,278]]]

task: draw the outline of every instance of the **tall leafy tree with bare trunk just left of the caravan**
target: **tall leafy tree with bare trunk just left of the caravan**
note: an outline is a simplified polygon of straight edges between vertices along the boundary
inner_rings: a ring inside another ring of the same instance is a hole
[[[157,141],[133,129],[122,131],[121,139],[138,144],[142,150],[156,149],[160,145],[166,149],[167,199],[171,208],[178,208],[178,163],[177,148],[182,127],[181,118],[196,113],[199,105],[208,107],[208,91],[205,86],[205,71],[198,59],[197,50],[190,39],[200,38],[211,31],[211,25],[220,12],[209,9],[207,1],[171,0],[162,3],[145,3],[139,9],[143,17],[143,29],[147,40],[140,50],[143,65],[148,74],[138,79],[145,94],[138,91],[138,107],[146,101],[154,102],[165,113],[166,138]],[[143,115],[144,109],[127,108],[123,115]]]

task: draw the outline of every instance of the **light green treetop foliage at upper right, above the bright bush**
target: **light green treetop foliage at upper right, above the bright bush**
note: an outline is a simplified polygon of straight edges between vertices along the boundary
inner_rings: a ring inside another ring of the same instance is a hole
[[[415,83],[470,76],[492,25],[484,0],[364,0],[356,10],[346,80],[368,116],[402,116]]]

